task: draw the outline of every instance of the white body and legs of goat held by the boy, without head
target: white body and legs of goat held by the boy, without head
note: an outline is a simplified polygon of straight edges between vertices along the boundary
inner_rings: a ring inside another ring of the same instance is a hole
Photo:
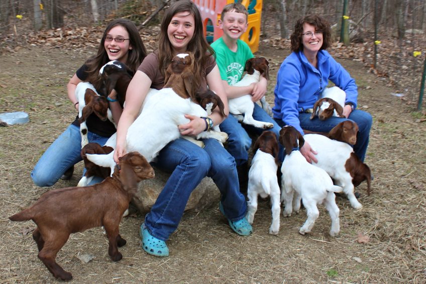
[[[257,83],[259,82],[259,77],[260,72],[255,69],[253,74],[246,73],[240,81],[234,84],[234,86],[241,87],[248,86],[251,83]],[[262,108],[270,115],[270,107],[266,102],[265,96],[260,99],[260,103],[262,104]],[[245,94],[242,97],[228,100],[229,112],[236,115],[240,122],[263,129],[274,127],[272,123],[257,121],[253,118],[254,104],[255,103],[253,103],[252,96],[250,94]]]

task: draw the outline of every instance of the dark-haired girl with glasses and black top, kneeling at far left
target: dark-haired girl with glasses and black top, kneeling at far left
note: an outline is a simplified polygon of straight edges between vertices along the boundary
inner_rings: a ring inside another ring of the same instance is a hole
[[[68,82],[68,97],[77,112],[78,103],[75,98],[75,88],[79,82],[90,82],[99,94],[103,94],[103,83],[99,76],[99,69],[105,63],[111,60],[119,60],[136,72],[136,69],[146,54],[145,46],[133,22],[126,19],[112,21],[103,32],[97,54],[87,59]],[[113,90],[110,94],[103,95],[110,98],[110,109],[114,120],[118,122],[122,109],[118,101],[115,101],[117,96],[116,91]],[[31,172],[31,178],[36,185],[52,186],[61,176],[63,179],[71,178],[74,164],[82,160],[80,155],[80,125],[77,119],[78,116],[53,144],[49,146],[37,162]],[[102,146],[116,132],[114,124],[109,120],[101,121],[94,114],[88,117],[86,124],[89,142],[95,142]]]

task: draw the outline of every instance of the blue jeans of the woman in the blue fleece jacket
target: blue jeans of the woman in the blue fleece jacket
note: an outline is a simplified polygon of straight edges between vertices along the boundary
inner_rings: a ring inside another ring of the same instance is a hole
[[[354,145],[355,154],[364,162],[365,154],[367,152],[368,141],[370,137],[370,128],[373,123],[373,118],[367,112],[354,110],[349,115],[349,119],[331,117],[327,120],[319,120],[318,117],[310,120],[311,114],[299,114],[300,126],[302,129],[315,131],[315,132],[329,132],[333,127],[345,120],[352,120],[358,124],[359,131],[357,134],[357,143]],[[284,122],[277,120],[277,122],[284,126]]]

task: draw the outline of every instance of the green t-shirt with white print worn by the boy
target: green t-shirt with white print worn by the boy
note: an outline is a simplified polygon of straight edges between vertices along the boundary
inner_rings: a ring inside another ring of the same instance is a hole
[[[216,63],[221,72],[222,80],[227,80],[230,86],[241,80],[246,61],[253,58],[250,47],[242,40],[237,41],[237,52],[228,48],[222,38],[219,38],[211,47],[216,52]]]

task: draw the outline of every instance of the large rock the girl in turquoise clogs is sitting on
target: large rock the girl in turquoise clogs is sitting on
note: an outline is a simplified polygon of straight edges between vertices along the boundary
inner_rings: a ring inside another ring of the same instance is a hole
[[[137,198],[134,198],[132,203],[140,213],[148,213],[151,210],[169,177],[169,173],[155,169],[153,179],[143,180],[139,183]],[[185,211],[199,211],[203,207],[219,204],[219,200],[218,187],[211,178],[204,177],[191,193]]]

